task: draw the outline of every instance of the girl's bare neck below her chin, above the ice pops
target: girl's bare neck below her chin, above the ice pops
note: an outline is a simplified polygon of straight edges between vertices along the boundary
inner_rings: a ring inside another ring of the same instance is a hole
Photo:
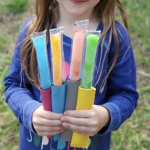
[[[58,6],[56,9],[56,26],[65,26],[65,35],[68,37],[73,37],[74,23],[79,20],[89,19],[89,29],[97,29],[100,20],[94,14],[93,9],[88,10],[88,12],[81,15],[69,14],[62,6]]]

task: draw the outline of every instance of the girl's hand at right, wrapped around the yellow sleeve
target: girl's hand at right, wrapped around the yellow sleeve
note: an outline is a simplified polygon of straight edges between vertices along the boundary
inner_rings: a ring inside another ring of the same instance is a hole
[[[93,105],[90,110],[66,111],[61,120],[64,128],[79,134],[94,136],[108,125],[110,114],[105,107]]]

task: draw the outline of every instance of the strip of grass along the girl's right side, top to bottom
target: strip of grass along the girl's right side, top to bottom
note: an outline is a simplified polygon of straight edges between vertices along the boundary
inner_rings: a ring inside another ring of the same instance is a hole
[[[148,150],[150,147],[150,2],[121,0],[127,11],[129,31],[134,47],[140,93],[138,106],[118,131],[112,132],[111,150]]]

